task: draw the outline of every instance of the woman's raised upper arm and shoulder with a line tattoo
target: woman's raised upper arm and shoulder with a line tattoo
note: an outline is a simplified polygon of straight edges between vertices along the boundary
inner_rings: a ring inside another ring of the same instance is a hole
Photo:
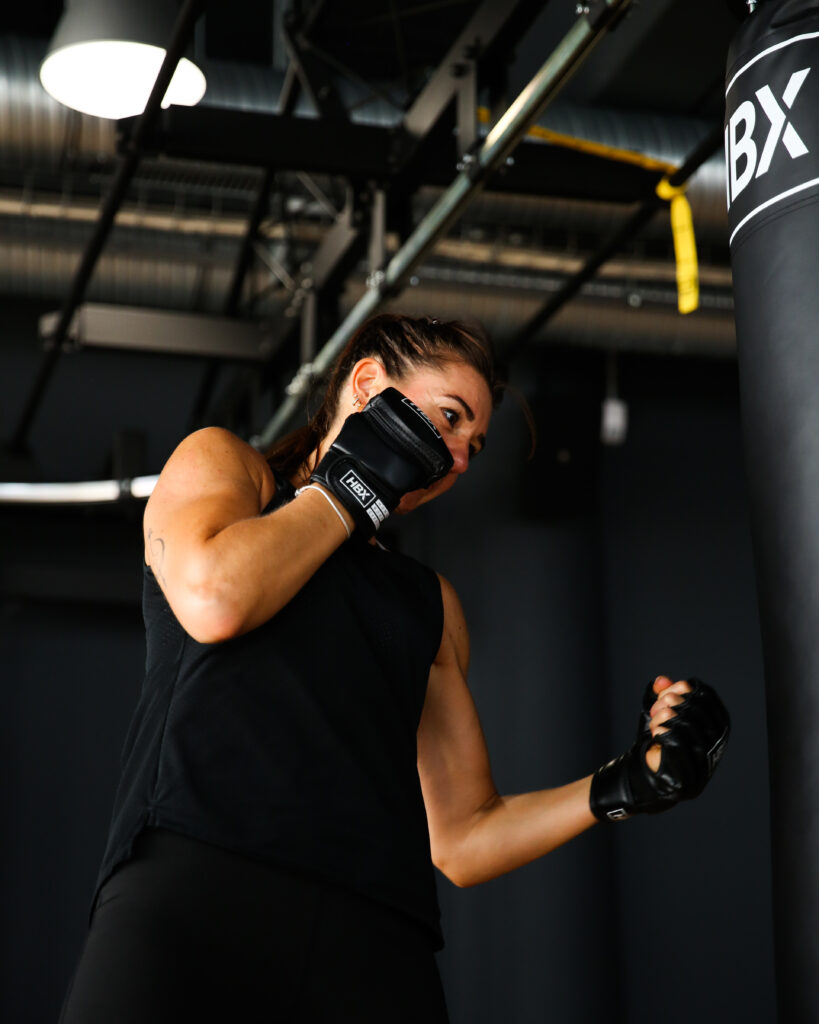
[[[208,542],[257,516],[273,490],[262,456],[226,430],[199,430],[174,451],[145,507],[143,531],[145,561],[180,621],[188,591],[207,587]]]

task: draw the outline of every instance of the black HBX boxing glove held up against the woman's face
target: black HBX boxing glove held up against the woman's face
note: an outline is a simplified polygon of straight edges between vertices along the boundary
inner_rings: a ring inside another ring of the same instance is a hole
[[[403,495],[428,487],[452,468],[432,420],[394,387],[344,421],[311,479],[338,498],[372,537]]]

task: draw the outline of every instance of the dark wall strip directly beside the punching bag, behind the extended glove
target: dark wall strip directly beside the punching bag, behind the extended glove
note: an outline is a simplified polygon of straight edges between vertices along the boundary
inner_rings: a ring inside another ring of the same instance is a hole
[[[628,1020],[656,1019],[682,959],[667,1024],[774,1021],[765,696],[735,368],[643,361],[623,386],[630,443],[606,454],[603,474],[615,742],[634,726],[635,680],[656,668],[713,682],[733,720],[701,800],[616,831]]]

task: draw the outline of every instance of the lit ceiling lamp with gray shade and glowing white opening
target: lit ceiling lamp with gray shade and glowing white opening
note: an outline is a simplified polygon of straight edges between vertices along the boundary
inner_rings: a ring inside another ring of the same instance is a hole
[[[175,12],[173,0],[73,0],[40,68],[43,88],[83,114],[114,119],[141,114]],[[162,105],[192,106],[205,89],[203,73],[182,57]]]

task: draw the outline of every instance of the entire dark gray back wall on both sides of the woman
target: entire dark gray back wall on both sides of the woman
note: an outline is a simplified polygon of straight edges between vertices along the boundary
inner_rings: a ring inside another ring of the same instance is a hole
[[[78,391],[75,410],[116,386],[123,364],[98,360],[94,392]],[[525,462],[523,417],[507,399],[485,455],[396,543],[462,596],[502,791],[558,784],[619,753],[658,672],[715,683],[734,737],[690,806],[596,827],[482,887],[441,881],[452,1022],[640,1024],[658,1012],[671,1024],[773,1021],[765,721],[735,369],[626,359],[632,429],[622,449],[605,451],[595,441],[600,370],[591,354],[530,362],[518,382],[538,421],[535,459]],[[144,369],[133,371],[136,387]],[[0,399],[10,393],[0,382]],[[67,400],[55,393],[48,414],[52,429],[61,423],[60,452],[74,430],[60,420]],[[152,452],[165,451],[184,404],[139,420],[154,431]],[[138,532],[137,518],[0,510],[2,564],[16,566],[0,572],[3,1020],[53,1021],[82,941],[141,676]],[[109,566],[94,578],[104,603],[87,583],[80,601],[43,600],[47,577],[26,566],[60,552],[58,592],[71,594],[89,565]]]

